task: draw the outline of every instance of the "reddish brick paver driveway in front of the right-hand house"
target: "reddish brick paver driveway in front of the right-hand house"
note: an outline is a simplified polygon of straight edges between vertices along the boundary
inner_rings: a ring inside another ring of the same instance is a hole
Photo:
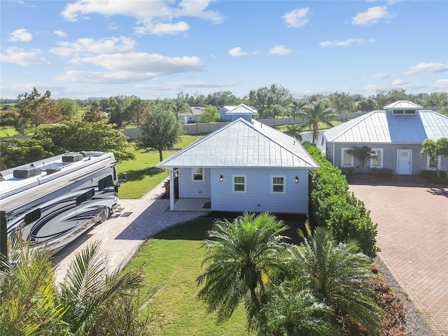
[[[448,188],[417,176],[349,176],[378,223],[379,257],[436,335],[448,335]]]

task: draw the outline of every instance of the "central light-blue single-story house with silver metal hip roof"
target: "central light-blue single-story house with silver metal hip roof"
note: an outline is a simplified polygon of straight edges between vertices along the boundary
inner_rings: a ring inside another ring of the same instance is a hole
[[[318,164],[298,141],[252,120],[252,109],[240,112],[156,167],[169,168],[170,181],[176,170],[179,201],[203,199],[208,211],[307,214],[308,171]]]

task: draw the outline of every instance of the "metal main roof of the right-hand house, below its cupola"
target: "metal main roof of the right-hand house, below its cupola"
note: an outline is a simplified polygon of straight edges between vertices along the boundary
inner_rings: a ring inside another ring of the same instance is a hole
[[[414,115],[372,111],[323,132],[328,142],[421,144],[425,139],[448,138],[448,116],[429,110]]]

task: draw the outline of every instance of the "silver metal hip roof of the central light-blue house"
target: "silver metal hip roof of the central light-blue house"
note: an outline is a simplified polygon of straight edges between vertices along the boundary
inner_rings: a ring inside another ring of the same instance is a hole
[[[287,167],[318,168],[288,135],[239,118],[195,141],[156,167]]]

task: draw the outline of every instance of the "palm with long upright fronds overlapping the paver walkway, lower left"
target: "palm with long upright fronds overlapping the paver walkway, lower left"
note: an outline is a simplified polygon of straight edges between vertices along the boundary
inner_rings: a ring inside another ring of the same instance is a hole
[[[100,254],[99,242],[88,245],[76,254],[61,284],[60,304],[66,309],[64,321],[70,325],[73,335],[97,335],[97,328],[114,328],[115,323],[104,321],[109,309],[116,317],[130,304],[126,297],[135,297],[143,278],[137,271],[125,272],[122,267],[109,274]],[[131,314],[132,315],[132,314]],[[111,316],[110,316],[111,317]],[[137,318],[137,316],[134,316]],[[127,321],[132,325],[135,321]],[[108,332],[106,332],[108,335]]]

